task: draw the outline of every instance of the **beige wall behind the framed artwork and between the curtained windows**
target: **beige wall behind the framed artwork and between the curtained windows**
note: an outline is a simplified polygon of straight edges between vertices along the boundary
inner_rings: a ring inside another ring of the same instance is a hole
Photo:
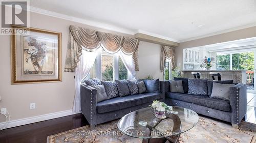
[[[55,17],[30,14],[30,26],[62,33],[62,82],[11,85],[10,36],[0,36],[0,108],[6,107],[11,120],[23,119],[47,113],[70,110],[74,100],[74,73],[63,72],[69,36],[69,25],[93,28],[101,32],[111,31],[63,20]],[[115,33],[129,36],[125,34]],[[139,45],[139,78],[148,74],[163,78],[159,68],[160,45],[141,42]],[[36,103],[35,109],[29,109],[30,103]],[[0,118],[0,122],[5,119]]]

